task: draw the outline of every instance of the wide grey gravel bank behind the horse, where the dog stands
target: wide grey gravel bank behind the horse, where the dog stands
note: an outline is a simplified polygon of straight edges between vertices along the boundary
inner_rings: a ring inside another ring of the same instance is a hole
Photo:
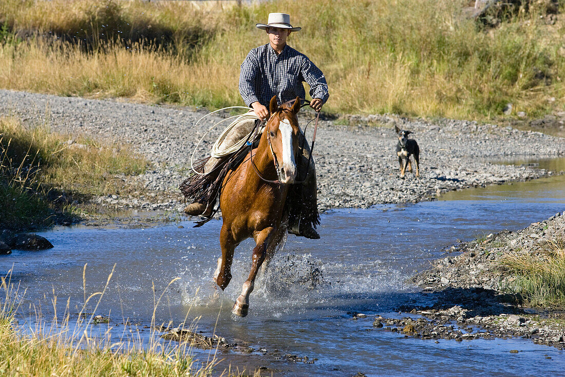
[[[190,173],[190,155],[206,130],[221,120],[212,116],[194,127],[206,110],[6,90],[0,90],[0,114],[15,116],[26,125],[47,121],[56,132],[132,144],[153,164],[135,182],[129,182],[145,191],[94,198],[94,204],[177,213],[184,208],[178,186]],[[305,126],[313,115],[308,110],[302,112],[301,125]],[[419,179],[411,173],[406,179],[399,178],[394,123],[414,132],[420,145]],[[206,152],[220,132],[220,128],[212,130],[200,152]],[[552,172],[495,162],[564,153],[563,138],[509,126],[389,115],[325,118],[320,121],[314,152],[319,207],[367,208],[379,203],[433,200],[450,190],[543,177]]]

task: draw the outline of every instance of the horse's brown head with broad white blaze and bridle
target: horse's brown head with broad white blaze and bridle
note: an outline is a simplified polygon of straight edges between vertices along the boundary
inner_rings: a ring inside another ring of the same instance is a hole
[[[267,138],[271,140],[277,175],[281,183],[293,183],[297,172],[294,156],[298,151],[300,128],[296,114],[300,110],[300,100],[296,97],[292,106],[279,106],[277,97],[273,96],[269,103],[269,110],[271,118],[264,132],[267,132]]]

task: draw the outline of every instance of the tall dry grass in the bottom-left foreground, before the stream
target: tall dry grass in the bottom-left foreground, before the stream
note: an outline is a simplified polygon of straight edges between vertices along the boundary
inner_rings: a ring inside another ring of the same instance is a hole
[[[85,266],[86,267],[86,266]],[[110,281],[112,273],[108,276]],[[25,292],[11,281],[11,272],[0,277],[0,374],[18,376],[211,376],[233,375],[215,371],[217,359],[198,362],[190,356],[190,343],[167,345],[158,340],[154,329],[144,344],[140,338],[110,342],[112,329],[104,336],[91,336],[94,314],[84,315],[89,302],[98,307],[101,292],[85,295],[84,307],[76,323],[67,311],[52,322],[39,316],[37,324],[18,325],[16,315]],[[170,283],[169,283],[170,285]],[[168,288],[168,286],[167,286]],[[160,297],[155,295],[155,307]],[[56,299],[55,299],[56,301]]]

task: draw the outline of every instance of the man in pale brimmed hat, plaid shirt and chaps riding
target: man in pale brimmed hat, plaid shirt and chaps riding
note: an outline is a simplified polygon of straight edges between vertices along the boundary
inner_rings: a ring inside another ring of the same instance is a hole
[[[301,28],[290,24],[290,16],[284,13],[270,13],[267,24],[256,24],[255,27],[267,32],[269,43],[254,48],[247,54],[241,65],[240,94],[243,100],[260,119],[267,120],[268,104],[273,96],[277,96],[279,104],[294,100],[296,97],[305,98],[306,93],[302,82],[310,85],[312,101],[310,107],[317,112],[328,100],[328,84],[324,74],[306,57],[286,44],[286,38],[293,31]],[[244,138],[253,129],[254,122],[244,122],[230,132],[221,144],[227,148]],[[301,138],[303,139],[301,134]],[[299,143],[302,145],[303,140]],[[316,202],[316,173],[314,161],[308,162],[310,147],[304,143],[304,153],[298,161],[297,180],[306,181],[294,185],[289,195],[298,197],[297,205],[301,211],[289,213],[289,233],[303,237],[320,238],[314,229],[319,224]],[[204,172],[212,172],[218,164],[218,158],[208,160]],[[295,198],[296,199],[296,198]],[[189,215],[210,216],[213,204],[192,203],[185,208]]]

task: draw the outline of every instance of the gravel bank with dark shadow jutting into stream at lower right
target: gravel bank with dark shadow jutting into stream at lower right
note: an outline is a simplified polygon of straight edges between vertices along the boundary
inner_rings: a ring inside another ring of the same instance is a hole
[[[428,304],[398,307],[396,318],[377,315],[371,318],[373,327],[430,340],[520,337],[565,349],[565,308],[523,305],[515,293],[515,275],[501,264],[511,253],[538,258],[548,244],[563,239],[565,212],[518,232],[453,246],[408,281],[421,288],[419,301]]]

